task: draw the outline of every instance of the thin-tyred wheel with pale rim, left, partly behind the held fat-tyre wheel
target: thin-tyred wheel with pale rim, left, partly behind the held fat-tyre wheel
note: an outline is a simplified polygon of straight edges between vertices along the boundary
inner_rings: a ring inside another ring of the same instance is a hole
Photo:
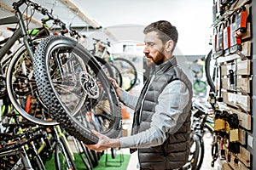
[[[6,74],[9,99],[15,110],[31,122],[40,125],[54,126],[49,110],[38,95],[38,87],[33,77],[32,59],[22,46],[9,62]]]

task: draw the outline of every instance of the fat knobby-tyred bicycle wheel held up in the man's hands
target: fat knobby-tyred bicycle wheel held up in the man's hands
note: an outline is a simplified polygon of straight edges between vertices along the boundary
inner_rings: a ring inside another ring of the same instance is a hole
[[[104,111],[110,123],[100,133],[110,138],[119,135],[121,112],[114,88],[96,59],[78,42],[63,36],[45,38],[36,50],[34,69],[40,97],[68,133],[86,144],[96,143],[91,118]]]

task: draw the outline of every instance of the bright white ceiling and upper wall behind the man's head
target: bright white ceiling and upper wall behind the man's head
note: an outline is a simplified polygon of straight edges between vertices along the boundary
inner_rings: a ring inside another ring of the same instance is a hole
[[[212,25],[212,1],[206,0],[34,0],[67,26],[87,37],[108,37],[113,42],[143,42],[143,28],[156,20],[177,26],[177,51],[207,54]],[[11,14],[15,0],[0,0],[0,16]],[[42,15],[35,15],[35,24]],[[1,29],[1,27],[0,27]],[[101,36],[99,36],[101,35]]]

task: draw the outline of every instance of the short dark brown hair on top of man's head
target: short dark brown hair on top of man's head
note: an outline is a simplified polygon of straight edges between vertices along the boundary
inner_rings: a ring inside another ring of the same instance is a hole
[[[166,20],[159,20],[156,22],[151,23],[150,25],[146,26],[144,28],[143,33],[147,34],[148,32],[156,31],[160,40],[163,43],[166,43],[170,39],[175,43],[177,43],[177,29],[175,26],[172,26],[172,24]]]

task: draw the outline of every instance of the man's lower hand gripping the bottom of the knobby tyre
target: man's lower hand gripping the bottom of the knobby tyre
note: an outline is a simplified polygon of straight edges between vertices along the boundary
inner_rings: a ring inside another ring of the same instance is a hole
[[[119,148],[120,141],[119,139],[110,139],[108,136],[98,133],[95,130],[91,130],[98,138],[99,141],[97,144],[85,144],[90,150],[102,151],[107,150],[108,148]]]

